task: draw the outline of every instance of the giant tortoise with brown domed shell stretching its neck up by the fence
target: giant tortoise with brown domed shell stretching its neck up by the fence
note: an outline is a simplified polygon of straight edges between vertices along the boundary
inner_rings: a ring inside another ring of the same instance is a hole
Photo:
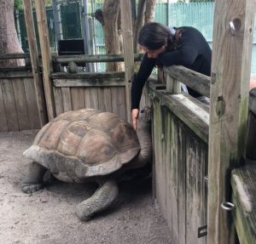
[[[44,186],[47,170],[64,182],[96,181],[95,194],[76,208],[81,220],[109,207],[118,196],[118,180],[151,160],[150,109],[139,115],[137,131],[109,112],[67,111],[47,123],[24,155],[32,160],[21,189],[33,193]]]

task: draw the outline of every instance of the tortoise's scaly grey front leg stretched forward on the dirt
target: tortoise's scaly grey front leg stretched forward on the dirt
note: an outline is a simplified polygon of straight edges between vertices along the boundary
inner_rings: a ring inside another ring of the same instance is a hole
[[[83,221],[88,221],[94,213],[108,208],[117,198],[118,193],[119,188],[116,180],[106,180],[93,196],[79,203],[76,209],[77,216]]]

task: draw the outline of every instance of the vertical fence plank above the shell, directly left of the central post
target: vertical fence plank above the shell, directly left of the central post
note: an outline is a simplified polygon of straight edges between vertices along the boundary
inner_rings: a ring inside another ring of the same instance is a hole
[[[113,113],[127,120],[127,114],[125,113],[125,88],[113,87],[111,88],[111,94]]]

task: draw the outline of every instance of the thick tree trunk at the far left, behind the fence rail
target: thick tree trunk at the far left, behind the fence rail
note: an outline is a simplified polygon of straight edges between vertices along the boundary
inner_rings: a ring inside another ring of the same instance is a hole
[[[0,0],[0,54],[23,53],[15,29],[14,0]],[[24,60],[0,61],[0,66],[24,65]]]

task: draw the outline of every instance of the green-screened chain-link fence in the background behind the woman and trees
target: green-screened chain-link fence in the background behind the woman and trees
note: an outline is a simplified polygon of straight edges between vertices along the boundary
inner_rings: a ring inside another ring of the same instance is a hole
[[[53,52],[57,50],[60,39],[84,38],[83,0],[74,2],[58,1],[58,8],[46,8],[49,42]],[[102,25],[93,18],[96,9],[102,9],[102,4],[90,1],[88,13],[90,27],[90,43],[94,43],[92,54],[105,54]],[[212,43],[214,3],[157,3],[154,21],[166,26],[193,26],[202,32],[207,41]],[[58,16],[58,18],[56,18]],[[25,52],[28,51],[24,13],[20,11],[15,16],[18,27],[20,43]],[[35,17],[35,13],[34,13]],[[57,22],[57,23],[56,23]],[[254,18],[255,22],[255,18]],[[38,36],[37,25],[36,33]],[[253,35],[252,73],[256,73],[256,23]],[[105,65],[97,65],[96,71],[104,71]]]

